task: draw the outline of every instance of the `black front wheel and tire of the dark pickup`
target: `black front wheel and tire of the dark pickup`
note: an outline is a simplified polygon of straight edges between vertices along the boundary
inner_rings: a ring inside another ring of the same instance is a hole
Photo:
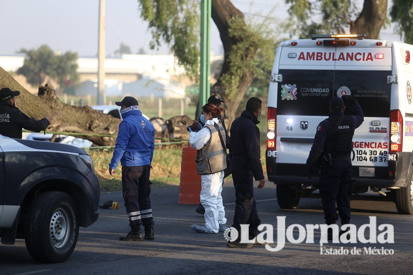
[[[70,257],[79,235],[76,205],[64,192],[49,191],[34,198],[24,226],[24,239],[33,259],[60,263]]]

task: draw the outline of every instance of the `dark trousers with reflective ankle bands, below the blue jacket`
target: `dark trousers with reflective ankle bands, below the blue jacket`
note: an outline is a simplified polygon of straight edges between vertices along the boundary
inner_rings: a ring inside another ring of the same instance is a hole
[[[154,228],[150,200],[150,172],[150,165],[122,167],[123,199],[129,216],[129,226],[133,231],[140,229],[142,224],[145,230]]]

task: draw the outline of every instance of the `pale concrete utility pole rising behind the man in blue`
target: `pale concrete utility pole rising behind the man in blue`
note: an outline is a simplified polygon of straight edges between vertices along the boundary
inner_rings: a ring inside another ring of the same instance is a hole
[[[106,103],[104,91],[105,0],[99,0],[99,42],[97,58],[97,105]]]

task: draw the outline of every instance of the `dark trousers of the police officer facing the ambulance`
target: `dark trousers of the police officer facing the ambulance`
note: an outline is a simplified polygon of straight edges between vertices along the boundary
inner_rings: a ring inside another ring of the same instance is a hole
[[[353,168],[349,160],[332,160],[332,165],[321,166],[320,194],[324,219],[327,224],[338,220],[335,204],[342,224],[350,223],[349,187]]]

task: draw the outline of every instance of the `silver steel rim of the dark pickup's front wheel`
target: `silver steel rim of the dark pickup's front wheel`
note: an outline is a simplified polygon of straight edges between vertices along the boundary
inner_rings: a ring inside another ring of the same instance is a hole
[[[50,241],[56,248],[63,247],[69,239],[69,215],[57,208],[50,219]]]

